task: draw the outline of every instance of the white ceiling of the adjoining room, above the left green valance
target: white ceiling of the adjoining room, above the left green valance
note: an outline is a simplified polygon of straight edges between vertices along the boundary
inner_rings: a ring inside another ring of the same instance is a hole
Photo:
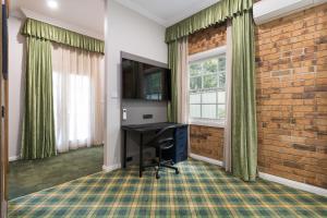
[[[51,10],[47,0],[11,0],[11,13],[20,15],[24,8],[50,19],[57,19],[69,24],[104,35],[105,1],[104,0],[57,0],[59,8]]]

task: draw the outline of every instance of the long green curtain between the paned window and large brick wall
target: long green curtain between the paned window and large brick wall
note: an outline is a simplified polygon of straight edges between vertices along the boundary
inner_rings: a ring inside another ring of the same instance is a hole
[[[255,181],[257,123],[254,24],[251,12],[233,17],[232,45],[232,171],[244,181]]]

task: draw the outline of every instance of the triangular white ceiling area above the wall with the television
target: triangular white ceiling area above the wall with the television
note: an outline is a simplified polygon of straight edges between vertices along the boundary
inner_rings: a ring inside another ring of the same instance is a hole
[[[220,0],[116,0],[116,1],[168,27]]]

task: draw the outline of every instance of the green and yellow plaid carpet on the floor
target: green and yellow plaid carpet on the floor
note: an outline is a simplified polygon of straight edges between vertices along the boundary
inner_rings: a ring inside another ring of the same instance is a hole
[[[10,217],[327,217],[327,198],[259,180],[245,183],[202,161],[181,174],[137,168],[97,173],[10,202]]]

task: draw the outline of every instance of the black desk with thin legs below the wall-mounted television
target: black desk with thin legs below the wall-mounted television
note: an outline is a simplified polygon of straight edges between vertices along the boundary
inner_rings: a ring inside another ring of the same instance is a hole
[[[157,132],[162,130],[164,128],[174,125],[175,129],[179,128],[185,128],[186,124],[179,124],[179,123],[149,123],[149,124],[140,124],[140,125],[122,125],[123,130],[123,159],[122,159],[122,166],[123,168],[126,168],[126,155],[128,155],[128,132],[134,132],[140,134],[140,177],[142,178],[143,172],[143,135],[150,132]]]

